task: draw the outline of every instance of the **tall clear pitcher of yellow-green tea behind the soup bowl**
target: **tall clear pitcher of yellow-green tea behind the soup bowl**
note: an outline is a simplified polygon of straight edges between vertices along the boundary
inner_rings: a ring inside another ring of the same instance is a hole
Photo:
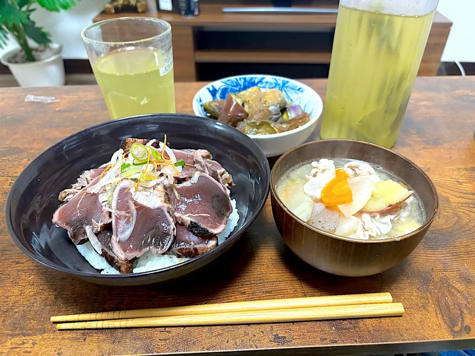
[[[322,138],[392,147],[438,0],[340,0]]]

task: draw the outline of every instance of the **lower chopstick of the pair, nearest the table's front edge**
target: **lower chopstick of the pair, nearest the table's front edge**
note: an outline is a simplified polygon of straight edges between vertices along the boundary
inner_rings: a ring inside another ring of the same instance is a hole
[[[56,324],[58,330],[133,328],[150,326],[198,326],[274,323],[290,321],[329,320],[400,316],[401,303],[361,304],[316,308],[279,309],[252,312],[224,312],[212,314],[174,315],[134,319],[98,320]]]

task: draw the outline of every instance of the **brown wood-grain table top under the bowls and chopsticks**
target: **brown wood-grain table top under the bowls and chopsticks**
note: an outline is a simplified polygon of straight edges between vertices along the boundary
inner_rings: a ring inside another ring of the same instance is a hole
[[[326,81],[305,81],[321,95]],[[191,113],[202,84],[177,84]],[[56,103],[25,103],[26,94]],[[48,146],[108,120],[98,87],[0,89],[0,209],[18,174]],[[314,269],[285,246],[270,201],[235,247],[168,285],[113,288],[40,267],[0,223],[0,354],[105,355],[230,351],[227,355],[395,354],[475,346],[475,78],[418,78],[395,150],[434,181],[437,216],[419,247],[384,273],[347,278]],[[313,138],[318,137],[318,132]],[[403,317],[280,324],[55,330],[56,314],[389,291]],[[200,354],[201,355],[201,354]],[[219,354],[221,355],[221,354]]]

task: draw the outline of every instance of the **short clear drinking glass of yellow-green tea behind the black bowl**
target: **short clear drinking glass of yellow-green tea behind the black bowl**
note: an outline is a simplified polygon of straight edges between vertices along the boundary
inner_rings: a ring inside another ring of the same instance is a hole
[[[147,17],[105,20],[86,27],[81,37],[112,119],[175,113],[168,22]]]

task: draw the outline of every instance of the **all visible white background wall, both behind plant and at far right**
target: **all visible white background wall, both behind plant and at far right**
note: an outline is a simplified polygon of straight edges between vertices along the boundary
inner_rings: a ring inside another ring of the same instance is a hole
[[[65,58],[87,58],[81,41],[81,30],[92,23],[107,0],[81,0],[69,11],[50,13],[38,9],[33,18],[51,32],[54,42],[64,46]],[[475,62],[475,0],[439,0],[437,10],[454,24],[442,60],[449,54],[462,62]],[[8,49],[15,44],[10,41]],[[3,50],[0,50],[0,54]]]

